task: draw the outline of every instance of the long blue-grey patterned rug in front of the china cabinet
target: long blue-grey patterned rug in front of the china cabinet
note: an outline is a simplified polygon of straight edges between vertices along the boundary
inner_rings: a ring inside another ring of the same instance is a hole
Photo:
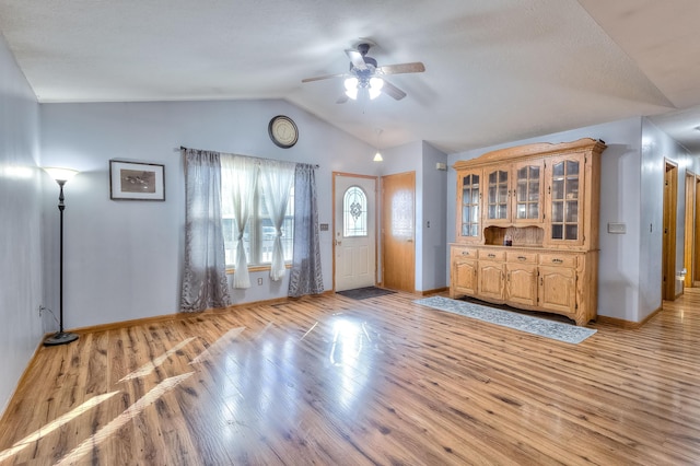
[[[478,318],[479,321],[527,331],[528,334],[539,335],[540,337],[552,338],[567,343],[580,343],[597,331],[592,328],[576,327],[575,325],[530,317],[510,311],[502,311],[442,296],[424,298],[413,302],[423,306],[464,315],[465,317]]]

